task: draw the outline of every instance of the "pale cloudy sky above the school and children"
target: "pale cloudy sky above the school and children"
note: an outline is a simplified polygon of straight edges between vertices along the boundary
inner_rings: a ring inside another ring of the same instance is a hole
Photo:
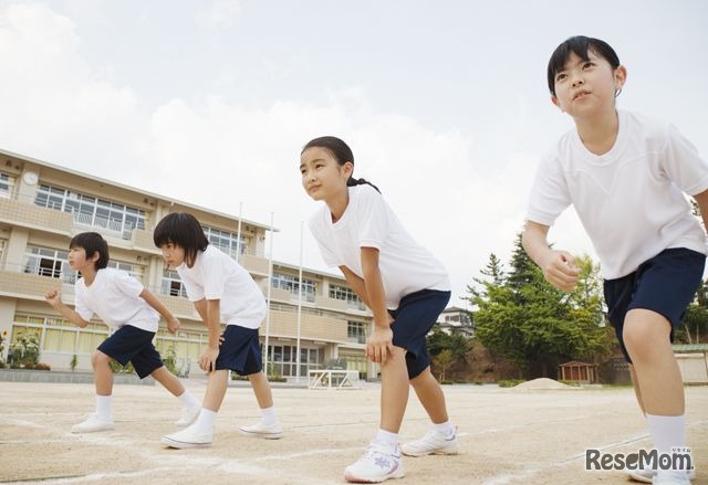
[[[451,305],[508,262],[572,119],[545,66],[571,35],[627,67],[622,109],[708,156],[701,0],[0,0],[0,148],[269,224],[300,262],[300,150],[334,135],[447,267]],[[236,229],[236,228],[235,228]],[[571,209],[549,238],[595,257]],[[303,264],[326,268],[306,230]]]

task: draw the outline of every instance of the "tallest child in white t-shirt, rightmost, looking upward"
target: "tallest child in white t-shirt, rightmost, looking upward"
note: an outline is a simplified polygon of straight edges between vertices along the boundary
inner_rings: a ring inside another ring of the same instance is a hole
[[[684,193],[696,199],[708,222],[708,166],[671,125],[616,110],[626,74],[598,39],[571,38],[551,56],[551,99],[576,129],[539,166],[523,246],[549,283],[572,289],[575,260],[550,249],[546,234],[565,208],[575,207],[601,260],[608,318],[631,362],[654,445],[670,454],[685,446],[686,428],[671,340],[706,260],[706,233]],[[654,475],[632,474],[641,481]],[[659,471],[654,483],[688,483],[688,475]]]

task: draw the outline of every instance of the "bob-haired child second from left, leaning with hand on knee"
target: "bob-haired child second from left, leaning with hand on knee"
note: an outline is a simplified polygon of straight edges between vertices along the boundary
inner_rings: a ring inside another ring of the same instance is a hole
[[[209,245],[197,219],[179,212],[165,217],[153,235],[165,262],[177,268],[187,296],[209,329],[209,344],[199,367],[209,372],[199,418],[183,431],[163,436],[163,444],[176,447],[211,445],[216,419],[231,370],[248,376],[261,409],[261,420],[239,428],[248,436],[279,439],[283,432],[273,407],[268,378],[262,371],[258,329],[266,317],[263,293],[253,278],[231,257]],[[219,345],[220,323],[226,324]]]

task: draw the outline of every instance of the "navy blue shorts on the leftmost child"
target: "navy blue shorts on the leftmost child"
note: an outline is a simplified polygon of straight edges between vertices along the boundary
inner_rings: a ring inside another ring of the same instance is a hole
[[[106,356],[125,366],[133,362],[133,368],[140,379],[145,379],[154,370],[163,367],[163,359],[153,345],[154,331],[124,325],[103,340],[98,346]]]

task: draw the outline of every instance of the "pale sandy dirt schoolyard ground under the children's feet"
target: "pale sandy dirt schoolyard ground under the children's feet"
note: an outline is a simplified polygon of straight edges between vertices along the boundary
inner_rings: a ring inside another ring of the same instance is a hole
[[[202,396],[205,382],[186,386]],[[628,484],[624,472],[585,472],[584,450],[631,453],[649,442],[631,389],[520,391],[445,387],[462,451],[405,457],[402,484]],[[116,386],[115,431],[72,434],[93,408],[90,384],[0,382],[0,482],[58,484],[340,484],[378,423],[378,388],[274,389],[285,436],[241,436],[259,412],[249,388],[230,388],[206,450],[168,450],[179,402],[159,386]],[[688,388],[688,443],[708,484],[708,388]],[[428,428],[412,394],[402,437]]]

